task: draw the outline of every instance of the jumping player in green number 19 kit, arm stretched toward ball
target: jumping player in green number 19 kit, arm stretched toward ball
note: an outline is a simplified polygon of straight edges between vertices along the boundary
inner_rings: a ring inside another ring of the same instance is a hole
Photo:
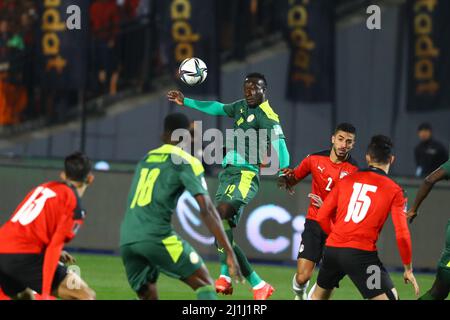
[[[266,90],[267,81],[264,75],[251,73],[245,77],[243,83],[244,99],[231,104],[217,101],[197,101],[185,98],[179,91],[169,91],[167,97],[180,106],[196,109],[213,116],[232,118],[235,132],[237,130],[242,130],[244,133],[254,131],[256,136],[259,136],[259,131],[265,129],[268,141],[271,142],[278,155],[278,169],[283,169],[289,166],[289,153],[278,115],[272,110],[266,99]],[[250,149],[255,147],[259,148],[257,141],[250,143],[246,139],[244,148],[234,143],[234,148],[227,152],[222,163],[224,170],[219,175],[219,187],[215,202],[228,239],[233,244],[242,274],[253,288],[254,299],[265,300],[272,295],[274,288],[259,277],[242,249],[233,241],[233,229],[236,228],[244,207],[256,196],[259,188],[259,167],[262,165],[262,159],[259,157],[261,150],[257,150],[256,153],[250,152]],[[251,154],[258,155],[256,161],[252,161]],[[279,172],[281,174],[281,171]],[[220,246],[218,251],[221,274],[216,280],[216,291],[222,294],[232,294],[233,287],[228,267],[225,264],[227,254]]]

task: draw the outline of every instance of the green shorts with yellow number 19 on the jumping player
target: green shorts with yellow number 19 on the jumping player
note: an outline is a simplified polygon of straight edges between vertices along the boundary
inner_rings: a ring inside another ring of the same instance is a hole
[[[228,222],[232,228],[236,227],[244,211],[244,207],[256,196],[259,189],[259,175],[250,170],[227,166],[219,174],[215,202],[229,203],[236,210],[236,215]]]

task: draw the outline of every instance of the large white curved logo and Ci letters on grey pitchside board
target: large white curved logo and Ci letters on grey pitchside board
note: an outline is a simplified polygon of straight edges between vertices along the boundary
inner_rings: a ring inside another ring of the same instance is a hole
[[[214,237],[204,226],[195,199],[185,192],[173,219],[180,235],[201,254],[214,254]],[[265,261],[295,261],[305,216],[281,205],[265,204],[248,210],[234,232],[237,243],[249,257]]]

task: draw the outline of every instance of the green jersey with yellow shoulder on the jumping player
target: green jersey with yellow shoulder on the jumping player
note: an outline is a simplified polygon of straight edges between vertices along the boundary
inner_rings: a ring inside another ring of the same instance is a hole
[[[234,119],[235,133],[234,138],[231,137],[234,141],[229,141],[230,137],[227,134],[227,144],[233,145],[234,148],[227,150],[223,166],[233,165],[259,172],[262,155],[268,154],[271,141],[285,138],[278,115],[272,110],[268,101],[256,108],[250,108],[245,100],[239,100],[224,105],[223,110]],[[238,140],[239,132],[242,133],[241,137],[245,138],[245,143],[242,143],[243,140]],[[262,135],[263,132],[266,134]],[[262,143],[263,139],[267,143]]]

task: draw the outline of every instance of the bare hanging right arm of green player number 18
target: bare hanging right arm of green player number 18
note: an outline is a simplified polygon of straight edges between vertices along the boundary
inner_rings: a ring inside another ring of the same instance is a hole
[[[200,206],[200,215],[203,221],[205,222],[209,231],[211,231],[211,233],[217,239],[219,245],[224,248],[227,254],[227,265],[230,270],[230,275],[237,281],[241,282],[241,269],[239,267],[239,263],[237,262],[233,248],[231,247],[231,244],[228,241],[228,238],[223,229],[219,213],[217,212],[208,195],[196,195],[195,200],[197,200],[197,203]]]

